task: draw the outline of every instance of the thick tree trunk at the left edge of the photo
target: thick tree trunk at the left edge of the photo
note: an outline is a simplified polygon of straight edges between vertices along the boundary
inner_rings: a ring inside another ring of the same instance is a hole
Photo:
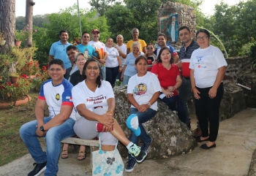
[[[0,0],[0,31],[6,40],[1,53],[7,53],[15,44],[15,22],[15,0]]]

